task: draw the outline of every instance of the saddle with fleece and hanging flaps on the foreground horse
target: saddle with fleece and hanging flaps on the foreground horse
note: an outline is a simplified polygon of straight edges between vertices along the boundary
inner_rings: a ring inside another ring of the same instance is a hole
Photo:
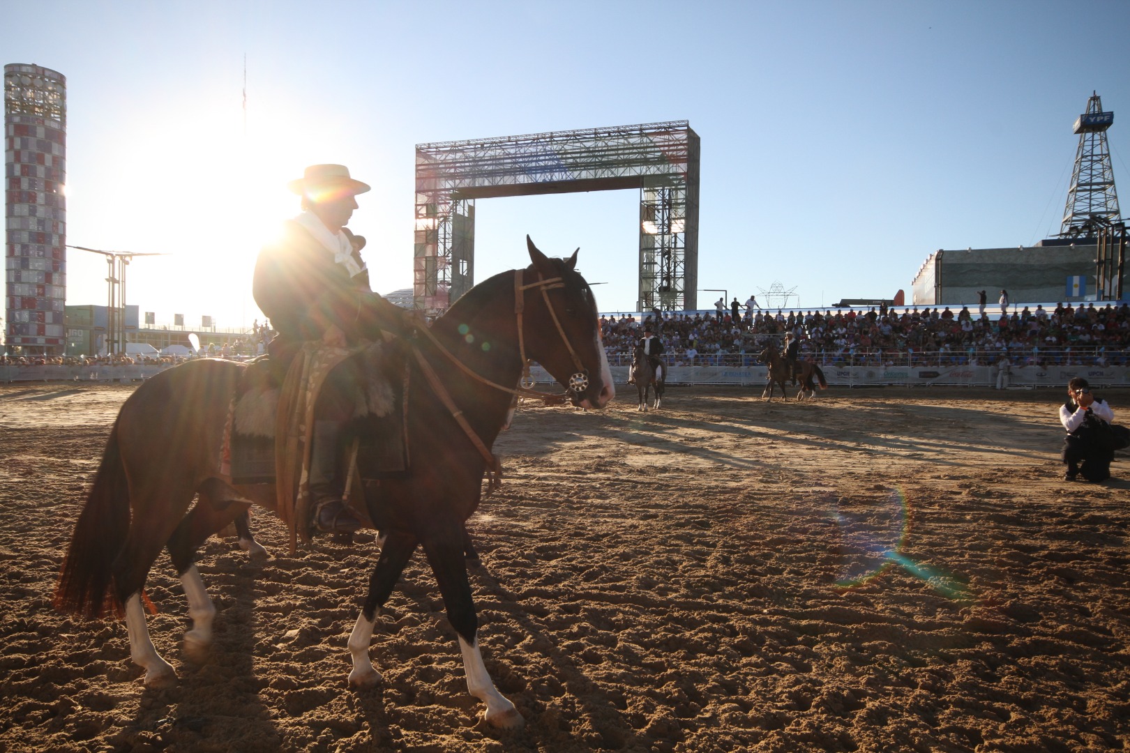
[[[406,347],[390,339],[349,349],[305,343],[281,384],[269,357],[244,370],[228,412],[220,471],[237,485],[276,484],[277,510],[290,528],[292,550],[297,537],[311,539],[308,467],[319,394],[323,387],[348,385],[354,410],[345,431],[345,501],[372,526],[366,501],[377,500],[365,499],[366,482],[408,471],[407,367]]]

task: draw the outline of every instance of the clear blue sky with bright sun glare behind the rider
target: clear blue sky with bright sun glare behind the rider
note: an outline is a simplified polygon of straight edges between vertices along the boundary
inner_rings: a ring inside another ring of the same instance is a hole
[[[259,315],[285,182],[339,161],[374,289],[411,286],[414,147],[688,120],[698,281],[801,306],[910,294],[938,248],[1059,231],[1092,90],[1130,213],[1128,2],[2,2],[5,63],[68,79],[68,243],[130,268],[158,322]],[[246,126],[242,107],[244,55]],[[635,304],[634,191],[477,203],[477,278],[580,246],[603,310]],[[68,303],[104,303],[72,251]],[[699,306],[719,294],[701,292]]]

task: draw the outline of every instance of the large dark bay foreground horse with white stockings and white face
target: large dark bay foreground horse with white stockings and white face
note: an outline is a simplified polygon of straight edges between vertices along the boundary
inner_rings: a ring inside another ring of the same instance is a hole
[[[574,270],[576,253],[547,259],[529,238],[527,244],[530,266],[472,288],[433,323],[432,336],[417,335],[415,349],[454,404],[444,405],[410,358],[407,434],[409,457],[417,462],[402,479],[382,480],[380,494],[366,490],[370,517],[386,539],[348,640],[349,683],[380,682],[368,656],[376,610],[423,546],[458,633],[468,691],[486,703],[486,720],[499,727],[524,721],[495,689],[479,653],[463,524],[479,505],[487,456],[494,461],[488,448],[507,421],[512,393],[502,385],[518,384],[524,352],[570,386],[575,405],[603,408],[615,396],[597,305]],[[190,361],[138,387],[118,414],[75,526],[55,604],[90,618],[124,608],[130,656],[145,668],[147,685],[176,681],[154,648],[142,607],[146,577],[160,550],[168,548],[188,598],[193,625],[185,648],[206,649],[216,608],[193,566],[195,550],[250,504],[275,508],[273,484],[233,485],[218,471],[228,408],[245,368],[234,361]],[[485,447],[475,446],[460,412]],[[198,501],[190,511],[193,497]]]

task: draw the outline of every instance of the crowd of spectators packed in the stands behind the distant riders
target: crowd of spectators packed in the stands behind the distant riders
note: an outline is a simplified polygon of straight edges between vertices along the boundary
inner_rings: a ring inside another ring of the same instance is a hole
[[[770,340],[792,333],[805,358],[837,366],[1124,366],[1130,362],[1130,305],[1012,307],[975,315],[967,307],[872,307],[601,316],[610,362],[625,362],[652,325],[671,366],[750,365]]]

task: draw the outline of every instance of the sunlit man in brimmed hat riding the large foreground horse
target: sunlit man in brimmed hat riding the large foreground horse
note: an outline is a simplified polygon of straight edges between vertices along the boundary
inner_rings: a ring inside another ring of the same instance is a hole
[[[370,186],[353,180],[344,165],[311,165],[289,189],[302,196],[303,211],[260,252],[253,283],[255,303],[278,332],[269,352],[279,379],[304,342],[345,348],[382,331],[403,336],[412,327],[408,312],[372,291],[360,256],[365,238],[345,227],[357,209],[356,195]],[[353,533],[362,523],[342,502],[338,473],[353,399],[348,385],[334,382],[331,375],[315,406],[310,492],[320,531]]]

